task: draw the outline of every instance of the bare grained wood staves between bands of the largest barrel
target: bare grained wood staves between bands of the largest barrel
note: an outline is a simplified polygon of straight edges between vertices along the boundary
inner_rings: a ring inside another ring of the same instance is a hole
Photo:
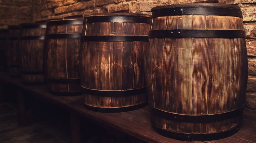
[[[151,30],[244,30],[243,19],[230,16],[157,17]],[[244,105],[247,82],[245,39],[151,38],[146,55],[150,106],[183,115],[220,114]],[[153,115],[152,115],[153,116]],[[153,116],[164,130],[205,134],[241,125],[241,117],[216,122],[186,123]]]

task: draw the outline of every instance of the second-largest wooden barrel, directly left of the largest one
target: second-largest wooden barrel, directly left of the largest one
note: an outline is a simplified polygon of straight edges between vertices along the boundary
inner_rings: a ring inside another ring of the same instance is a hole
[[[144,52],[150,15],[98,14],[87,18],[80,51],[84,104],[120,112],[147,105]]]

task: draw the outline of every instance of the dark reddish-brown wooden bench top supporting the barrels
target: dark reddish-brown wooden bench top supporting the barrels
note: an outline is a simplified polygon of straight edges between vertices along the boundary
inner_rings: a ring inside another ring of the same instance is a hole
[[[148,106],[138,110],[121,112],[121,113],[99,113],[86,109],[83,106],[82,96],[54,96],[47,92],[46,86],[25,86],[20,83],[19,78],[12,78],[7,73],[0,73],[0,80],[3,83],[9,83],[23,90],[33,93],[35,96],[40,96],[48,102],[58,104],[71,111],[79,113],[86,118],[103,123],[126,134],[133,135],[139,139],[148,142],[160,143],[183,143],[171,138],[164,137],[156,133],[150,121],[150,109]],[[256,114],[244,112],[243,126],[241,130],[230,137],[214,140],[203,141],[204,143],[256,143]],[[202,143],[202,142],[194,142]]]

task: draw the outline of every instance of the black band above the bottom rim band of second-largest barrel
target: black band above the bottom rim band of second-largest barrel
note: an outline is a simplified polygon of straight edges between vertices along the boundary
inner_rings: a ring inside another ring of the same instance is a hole
[[[96,96],[103,97],[124,97],[124,96],[132,96],[136,94],[146,94],[147,88],[137,88],[137,89],[129,89],[129,90],[95,90],[82,87],[83,94],[92,94]]]

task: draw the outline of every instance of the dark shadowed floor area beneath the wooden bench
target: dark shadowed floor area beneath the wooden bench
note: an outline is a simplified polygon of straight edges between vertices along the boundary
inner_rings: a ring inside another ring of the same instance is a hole
[[[28,123],[20,125],[16,91],[12,88],[7,91],[10,92],[0,93],[0,143],[71,143],[67,110],[27,94]],[[144,142],[84,118],[81,123],[83,143]]]

